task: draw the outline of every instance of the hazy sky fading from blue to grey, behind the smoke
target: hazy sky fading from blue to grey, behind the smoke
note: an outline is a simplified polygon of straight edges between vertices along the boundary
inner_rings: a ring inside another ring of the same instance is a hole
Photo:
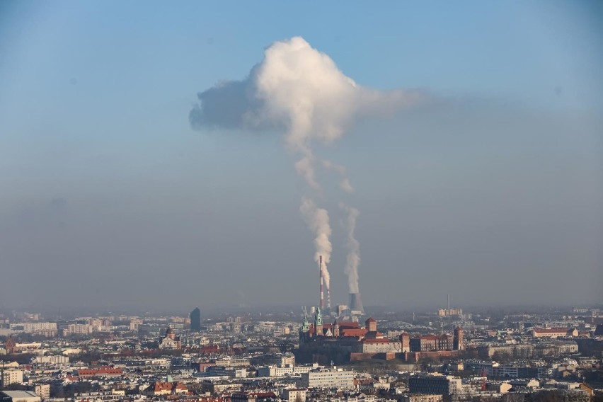
[[[302,197],[329,213],[334,303],[339,202],[364,304],[602,302],[601,21],[599,1],[1,1],[0,307],[316,304]],[[288,123],[191,127],[197,93],[293,37],[381,96],[311,142],[353,193],[306,184]]]

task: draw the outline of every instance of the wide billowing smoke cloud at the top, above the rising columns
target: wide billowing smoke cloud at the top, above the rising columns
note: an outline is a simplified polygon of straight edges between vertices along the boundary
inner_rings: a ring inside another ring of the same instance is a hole
[[[275,42],[243,81],[220,81],[197,94],[193,128],[285,129],[304,153],[310,140],[333,142],[359,117],[381,117],[427,100],[423,91],[378,91],[356,84],[304,38]]]

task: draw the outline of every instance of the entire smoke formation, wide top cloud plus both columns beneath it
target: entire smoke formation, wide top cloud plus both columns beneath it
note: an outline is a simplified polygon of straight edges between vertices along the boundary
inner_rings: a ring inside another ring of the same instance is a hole
[[[425,99],[418,91],[377,91],[356,84],[345,76],[328,55],[312,48],[303,38],[273,43],[260,64],[243,81],[221,82],[198,94],[199,104],[190,111],[195,129],[227,128],[280,130],[285,145],[299,158],[295,170],[314,193],[320,193],[316,168],[338,174],[345,193],[354,190],[345,166],[314,155],[312,142],[323,144],[340,138],[358,118],[395,113]],[[357,209],[348,212],[348,273],[350,292],[358,292],[360,246],[354,238]],[[300,208],[314,232],[314,259],[323,255],[323,276],[327,289],[330,279],[326,265],[331,262],[331,226],[326,209],[316,207],[308,197]]]

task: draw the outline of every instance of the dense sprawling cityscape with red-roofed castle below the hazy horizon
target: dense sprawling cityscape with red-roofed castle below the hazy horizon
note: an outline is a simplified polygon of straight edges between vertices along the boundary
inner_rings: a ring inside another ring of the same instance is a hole
[[[0,316],[3,401],[603,400],[603,311]]]

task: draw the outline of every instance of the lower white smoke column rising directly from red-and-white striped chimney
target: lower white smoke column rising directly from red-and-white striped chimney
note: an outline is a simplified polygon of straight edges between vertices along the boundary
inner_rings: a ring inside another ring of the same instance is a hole
[[[331,276],[328,273],[327,264],[331,263],[333,245],[329,240],[331,237],[331,224],[329,224],[328,212],[326,209],[316,207],[314,201],[308,197],[302,197],[302,206],[299,207],[299,211],[302,212],[302,217],[304,217],[308,229],[316,235],[314,238],[314,248],[316,248],[314,260],[318,263],[320,256],[323,256],[321,270],[326,288],[331,289]]]

